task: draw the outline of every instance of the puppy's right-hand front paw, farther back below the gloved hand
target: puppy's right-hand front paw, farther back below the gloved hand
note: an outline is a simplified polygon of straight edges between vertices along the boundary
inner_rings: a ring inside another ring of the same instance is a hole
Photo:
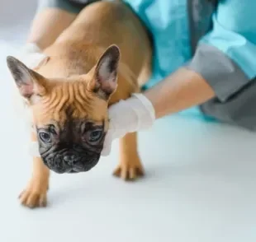
[[[128,157],[127,157],[128,158]],[[120,165],[114,170],[113,175],[124,180],[135,180],[145,174],[139,157],[133,157],[132,160],[121,159]]]

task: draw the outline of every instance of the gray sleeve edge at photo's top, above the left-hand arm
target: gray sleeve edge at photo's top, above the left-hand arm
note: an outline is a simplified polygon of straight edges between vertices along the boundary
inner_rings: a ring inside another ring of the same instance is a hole
[[[78,14],[83,7],[97,1],[100,0],[39,0],[37,12],[40,12],[42,9],[52,7]]]

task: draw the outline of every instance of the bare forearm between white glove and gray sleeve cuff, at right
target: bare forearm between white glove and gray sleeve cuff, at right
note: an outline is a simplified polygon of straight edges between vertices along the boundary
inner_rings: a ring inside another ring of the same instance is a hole
[[[195,105],[200,105],[214,97],[215,93],[197,72],[180,68],[161,81],[144,95],[151,101],[155,118],[177,113]]]

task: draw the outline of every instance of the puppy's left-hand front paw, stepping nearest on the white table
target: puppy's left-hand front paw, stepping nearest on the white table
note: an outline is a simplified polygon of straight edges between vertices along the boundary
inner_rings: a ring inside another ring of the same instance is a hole
[[[34,179],[19,196],[20,202],[25,207],[46,207],[48,184]]]

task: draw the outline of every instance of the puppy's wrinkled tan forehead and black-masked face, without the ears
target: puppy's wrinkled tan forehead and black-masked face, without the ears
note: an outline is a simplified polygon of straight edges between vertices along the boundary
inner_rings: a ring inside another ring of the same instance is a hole
[[[50,170],[77,173],[97,165],[108,123],[107,102],[90,93],[84,81],[53,83],[32,110],[40,156]],[[50,142],[42,140],[42,133]]]

